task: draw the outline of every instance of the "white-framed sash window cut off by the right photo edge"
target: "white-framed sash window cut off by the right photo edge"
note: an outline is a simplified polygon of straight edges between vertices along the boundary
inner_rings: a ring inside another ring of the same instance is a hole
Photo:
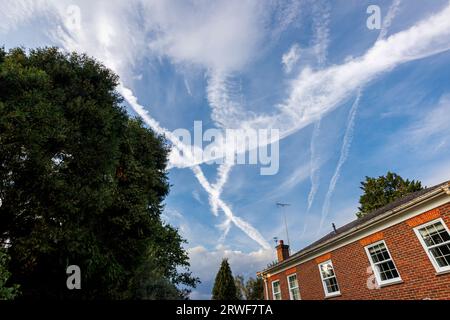
[[[450,233],[442,219],[414,229],[436,271],[450,270]]]

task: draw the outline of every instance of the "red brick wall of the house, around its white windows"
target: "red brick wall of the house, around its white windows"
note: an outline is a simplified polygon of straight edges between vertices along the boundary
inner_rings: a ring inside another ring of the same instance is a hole
[[[413,227],[417,223],[441,217],[450,228],[450,202],[401,222],[382,232],[355,241],[336,249],[331,255],[334,271],[339,283],[341,296],[330,299],[447,299],[450,300],[450,273],[436,275],[431,261],[419,242]],[[369,289],[367,282],[374,279],[367,273],[370,262],[363,244],[368,244],[382,238],[391,253],[392,259],[400,273],[403,282],[385,286],[379,289]],[[320,258],[320,257],[319,257]],[[309,260],[297,267],[297,279],[302,299],[324,299],[325,294],[319,274],[317,259]],[[319,259],[320,260],[320,259]],[[282,298],[289,299],[286,276],[293,269],[272,276],[268,281],[269,299],[272,299],[271,282],[280,280]]]

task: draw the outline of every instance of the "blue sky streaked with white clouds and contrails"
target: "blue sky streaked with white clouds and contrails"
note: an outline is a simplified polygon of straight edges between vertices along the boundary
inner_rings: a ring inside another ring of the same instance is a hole
[[[280,130],[275,175],[171,157],[164,219],[188,240],[193,298],[210,297],[223,257],[244,276],[275,259],[276,202],[291,204],[296,251],[355,218],[365,176],[450,179],[448,0],[7,0],[0,44],[96,57],[157,132]]]

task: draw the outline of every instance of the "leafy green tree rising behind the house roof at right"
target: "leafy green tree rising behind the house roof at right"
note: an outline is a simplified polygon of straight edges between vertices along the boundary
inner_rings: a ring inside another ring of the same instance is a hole
[[[385,176],[378,178],[366,177],[361,182],[363,194],[359,198],[358,218],[364,217],[367,213],[379,209],[392,201],[401,198],[408,193],[422,190],[420,181],[403,179],[396,173],[388,171]]]

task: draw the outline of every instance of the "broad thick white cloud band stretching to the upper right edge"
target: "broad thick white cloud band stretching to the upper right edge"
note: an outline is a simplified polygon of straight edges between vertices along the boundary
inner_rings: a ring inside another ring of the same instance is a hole
[[[450,5],[413,27],[380,40],[363,56],[320,71],[303,70],[291,83],[278,113],[260,115],[245,126],[279,128],[286,137],[334,110],[357,88],[400,64],[450,49]]]

